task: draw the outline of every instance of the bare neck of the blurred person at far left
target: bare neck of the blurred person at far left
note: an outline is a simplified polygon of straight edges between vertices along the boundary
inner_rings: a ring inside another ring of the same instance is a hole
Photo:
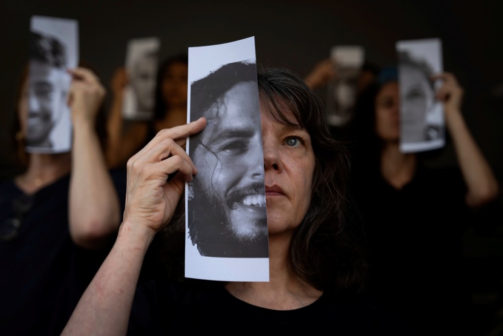
[[[34,193],[69,173],[70,166],[70,153],[33,153],[29,155],[26,172],[17,176],[15,181],[25,193]]]

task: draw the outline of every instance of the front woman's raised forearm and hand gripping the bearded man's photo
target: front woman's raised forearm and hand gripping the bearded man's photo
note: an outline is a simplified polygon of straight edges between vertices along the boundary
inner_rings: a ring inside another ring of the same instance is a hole
[[[124,335],[141,264],[154,235],[173,217],[185,182],[197,169],[182,148],[204,119],[162,130],[127,164],[124,220],[117,241],[62,335]],[[171,173],[178,174],[166,183]]]

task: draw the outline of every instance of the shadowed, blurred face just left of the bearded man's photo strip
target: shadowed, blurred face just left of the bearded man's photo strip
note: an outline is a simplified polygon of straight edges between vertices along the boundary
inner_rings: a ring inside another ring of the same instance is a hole
[[[177,62],[167,67],[162,79],[162,96],[170,107],[187,106],[187,74],[186,63]]]

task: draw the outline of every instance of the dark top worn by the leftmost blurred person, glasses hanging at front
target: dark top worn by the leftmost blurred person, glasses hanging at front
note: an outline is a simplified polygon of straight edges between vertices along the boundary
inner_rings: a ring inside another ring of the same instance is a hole
[[[111,173],[123,208],[125,171]],[[0,240],[2,335],[59,335],[109,252],[113,237],[99,251],[73,244],[68,188],[69,175],[33,195],[13,180],[0,184],[0,231],[12,219],[21,223],[16,237]]]

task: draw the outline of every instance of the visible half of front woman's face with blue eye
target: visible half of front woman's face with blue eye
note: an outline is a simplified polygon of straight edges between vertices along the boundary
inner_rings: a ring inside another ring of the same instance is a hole
[[[260,100],[269,237],[290,236],[304,219],[311,200],[315,158],[309,133],[278,122]],[[291,111],[283,111],[295,122]]]

